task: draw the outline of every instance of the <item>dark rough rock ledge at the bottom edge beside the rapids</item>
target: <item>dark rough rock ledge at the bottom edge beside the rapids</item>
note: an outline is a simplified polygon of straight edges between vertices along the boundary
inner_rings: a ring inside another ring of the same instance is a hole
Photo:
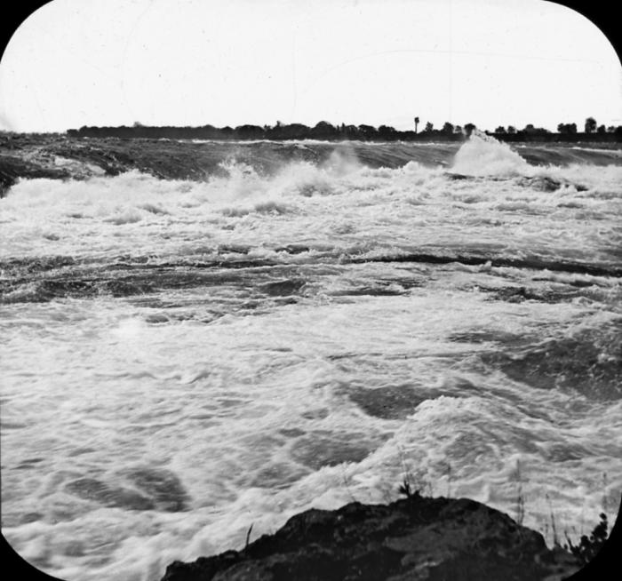
[[[558,581],[578,558],[467,498],[308,510],[241,551],[175,561],[162,581]]]

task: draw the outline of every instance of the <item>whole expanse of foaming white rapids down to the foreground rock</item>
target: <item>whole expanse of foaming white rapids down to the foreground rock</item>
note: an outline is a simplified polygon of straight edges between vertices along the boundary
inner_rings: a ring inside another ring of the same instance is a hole
[[[613,520],[622,156],[331,147],[0,200],[2,527],[36,567],[152,581],[404,477],[549,543]]]

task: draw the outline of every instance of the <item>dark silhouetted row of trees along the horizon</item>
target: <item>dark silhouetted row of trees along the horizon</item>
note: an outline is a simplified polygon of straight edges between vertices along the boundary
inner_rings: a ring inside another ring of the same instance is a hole
[[[214,127],[203,125],[200,127],[174,127],[174,126],[149,126],[136,122],[131,127],[97,127],[83,126],[80,129],[69,129],[67,134],[72,137],[119,137],[119,138],[151,138],[151,139],[352,139],[352,140],[430,140],[443,139],[459,141],[466,139],[475,129],[474,123],[466,123],[464,126],[446,122],[441,129],[435,129],[434,124],[427,122],[422,131],[418,131],[419,117],[414,118],[415,129],[399,131],[389,125],[380,125],[378,128],[367,125],[333,125],[327,121],[320,121],[314,127],[302,123],[281,123],[275,125],[251,125],[244,124],[237,127]],[[547,137],[551,140],[561,136],[564,138],[585,138],[586,136],[615,137],[622,139],[622,125],[618,127],[604,125],[598,126],[594,117],[587,117],[584,126],[585,131],[578,132],[576,123],[559,123],[557,133],[543,127],[534,127],[528,123],[522,130],[517,130],[513,125],[507,127],[499,125],[495,131],[485,131],[503,140],[520,140]],[[609,139],[607,139],[609,140]]]

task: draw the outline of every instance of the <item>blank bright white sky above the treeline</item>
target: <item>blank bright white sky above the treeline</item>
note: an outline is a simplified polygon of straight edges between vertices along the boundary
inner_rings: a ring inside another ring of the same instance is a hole
[[[53,0],[0,61],[0,129],[622,124],[622,67],[544,0]]]

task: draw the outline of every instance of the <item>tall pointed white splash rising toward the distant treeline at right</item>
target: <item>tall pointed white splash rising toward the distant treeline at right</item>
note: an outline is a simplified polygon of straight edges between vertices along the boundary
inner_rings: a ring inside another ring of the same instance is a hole
[[[506,143],[473,131],[466,143],[459,148],[451,171],[469,176],[515,176],[530,175],[529,164]]]

